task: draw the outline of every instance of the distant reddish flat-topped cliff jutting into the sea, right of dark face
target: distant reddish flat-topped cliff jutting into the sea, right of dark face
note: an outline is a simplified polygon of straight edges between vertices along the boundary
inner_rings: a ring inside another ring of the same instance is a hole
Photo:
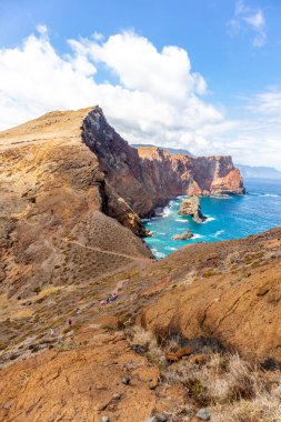
[[[231,157],[174,155],[158,148],[138,148],[147,189],[154,201],[172,195],[243,194],[240,171]]]

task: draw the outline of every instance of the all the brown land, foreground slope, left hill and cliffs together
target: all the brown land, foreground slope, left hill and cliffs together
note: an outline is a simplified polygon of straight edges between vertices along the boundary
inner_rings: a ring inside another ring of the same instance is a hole
[[[133,149],[99,108],[0,155],[1,421],[279,420],[281,229],[160,261],[141,239],[171,195],[242,194],[230,157]]]

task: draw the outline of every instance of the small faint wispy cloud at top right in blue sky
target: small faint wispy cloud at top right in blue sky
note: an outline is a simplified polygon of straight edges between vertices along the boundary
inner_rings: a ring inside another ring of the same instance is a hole
[[[253,32],[252,44],[262,47],[267,42],[265,19],[261,9],[249,8],[243,0],[237,0],[234,18],[229,22],[232,33],[243,30]]]

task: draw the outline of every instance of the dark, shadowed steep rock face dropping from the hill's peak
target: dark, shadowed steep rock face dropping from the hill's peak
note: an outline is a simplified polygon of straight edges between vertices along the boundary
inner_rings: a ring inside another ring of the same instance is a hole
[[[151,209],[153,202],[142,183],[138,151],[108,124],[99,107],[84,118],[81,135],[104,174],[106,213],[136,234],[144,235],[139,214]]]

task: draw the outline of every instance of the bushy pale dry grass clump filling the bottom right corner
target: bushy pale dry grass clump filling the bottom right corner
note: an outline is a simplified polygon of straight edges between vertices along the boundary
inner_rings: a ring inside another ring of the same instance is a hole
[[[203,365],[183,360],[162,376],[168,384],[182,383],[195,406],[209,408],[213,422],[281,421],[281,381],[273,382],[238,354],[214,353]]]

